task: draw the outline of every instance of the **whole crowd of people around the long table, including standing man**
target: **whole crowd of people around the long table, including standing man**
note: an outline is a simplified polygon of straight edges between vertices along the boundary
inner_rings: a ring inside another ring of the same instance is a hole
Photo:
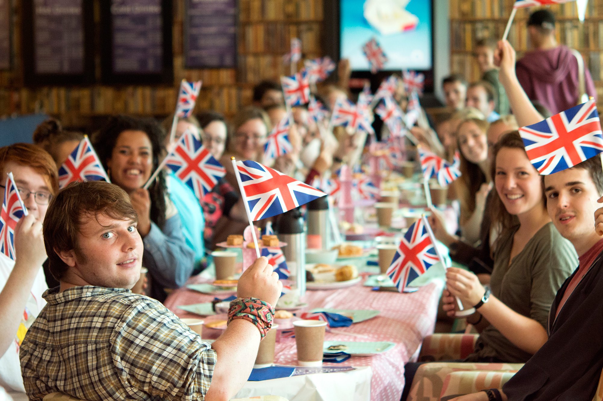
[[[462,175],[448,192],[459,229],[450,230],[436,207],[429,216],[435,238],[464,265],[447,270],[441,308],[449,317],[458,302],[476,309],[463,318],[479,333],[475,349],[456,362],[524,364],[502,388],[458,394],[458,401],[591,399],[603,368],[603,343],[593,335],[603,329],[601,161],[539,175],[517,131],[579,103],[578,69],[554,28],[550,11],[532,13],[534,51],[519,62],[510,43],[476,40],[478,79],[444,78],[440,113],[421,109],[408,127],[420,147],[459,158]],[[543,73],[551,60],[557,65]],[[312,84],[327,110],[356,99],[347,60],[336,75]],[[393,98],[406,112],[409,94],[398,82]],[[595,95],[588,72],[586,92]],[[292,151],[269,159],[264,145],[283,118],[291,120]],[[170,169],[154,174],[187,131],[226,168],[201,200]],[[30,212],[14,228],[14,260],[0,253],[0,387],[16,400],[53,391],[90,401],[137,393],[229,399],[247,380],[280,294],[267,259],[239,280],[244,318],[233,318],[212,345],[162,302],[210,264],[216,244],[248,225],[232,157],[312,183],[356,165],[374,137],[315,122],[306,106],[285,107],[274,81],[257,84],[251,104],[232,118],[212,110],[163,122],[120,115],[87,133],[110,183],[58,189],[58,169],[84,132],[57,119],[37,127],[35,145],[0,148],[0,177],[13,173]],[[377,133],[389,136],[385,125]],[[415,145],[403,139],[409,160],[418,159]],[[144,294],[134,294],[142,267]],[[413,377],[425,367],[406,364],[402,399],[415,399]]]

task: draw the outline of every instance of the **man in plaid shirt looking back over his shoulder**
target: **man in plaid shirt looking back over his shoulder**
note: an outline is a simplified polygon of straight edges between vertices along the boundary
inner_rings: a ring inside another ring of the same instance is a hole
[[[74,183],[48,207],[46,253],[60,287],[21,346],[30,400],[228,400],[247,380],[281,284],[267,259],[241,276],[229,325],[211,346],[156,300],[133,294],[142,239],[128,195]]]

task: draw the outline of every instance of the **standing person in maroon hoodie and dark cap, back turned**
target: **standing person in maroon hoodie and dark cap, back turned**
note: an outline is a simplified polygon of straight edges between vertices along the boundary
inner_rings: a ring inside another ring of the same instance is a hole
[[[543,9],[528,19],[529,42],[534,49],[517,62],[519,83],[531,100],[538,100],[552,114],[581,103],[578,99],[578,60],[555,39],[555,16]],[[584,66],[586,93],[596,98],[595,84]],[[513,109],[513,112],[516,112]]]

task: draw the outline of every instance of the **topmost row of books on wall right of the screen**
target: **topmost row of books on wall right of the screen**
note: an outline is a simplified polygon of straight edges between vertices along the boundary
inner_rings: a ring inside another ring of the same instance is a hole
[[[482,19],[499,18],[507,19],[513,10],[515,0],[450,0],[450,19]],[[576,2],[551,5],[551,11],[560,19],[577,18],[578,9]],[[520,8],[516,18],[527,18],[533,8]],[[603,2],[589,1],[586,8],[586,16],[603,17]]]

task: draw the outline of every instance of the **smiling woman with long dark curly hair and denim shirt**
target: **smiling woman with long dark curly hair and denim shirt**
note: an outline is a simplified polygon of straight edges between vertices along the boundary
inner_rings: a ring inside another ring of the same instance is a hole
[[[144,243],[142,264],[149,271],[147,292],[163,301],[164,288],[179,288],[191,276],[194,252],[186,245],[180,216],[169,200],[165,172],[142,188],[165,155],[163,132],[153,119],[116,116],[93,137],[111,182],[130,195]]]

